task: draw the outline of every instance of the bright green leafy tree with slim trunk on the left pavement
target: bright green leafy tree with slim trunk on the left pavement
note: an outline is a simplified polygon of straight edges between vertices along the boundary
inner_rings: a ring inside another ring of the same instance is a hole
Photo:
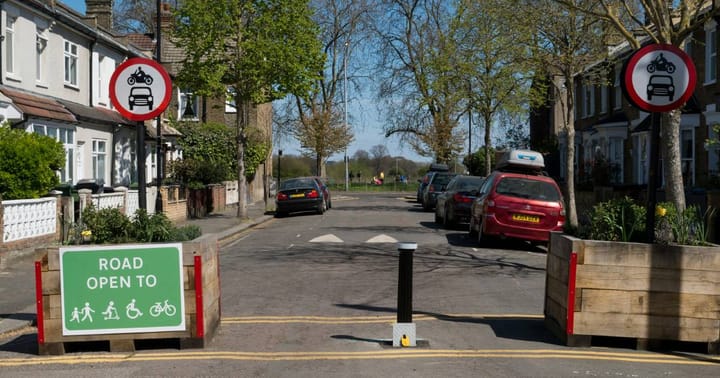
[[[238,106],[237,215],[247,218],[251,104],[310,91],[324,60],[317,25],[307,0],[184,0],[175,20],[173,42],[186,54],[178,83]]]

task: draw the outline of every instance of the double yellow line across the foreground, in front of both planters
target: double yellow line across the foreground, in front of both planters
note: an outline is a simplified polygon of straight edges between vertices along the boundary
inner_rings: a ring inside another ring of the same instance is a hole
[[[0,360],[0,367],[17,367],[49,364],[99,364],[152,361],[329,361],[329,360],[385,360],[385,359],[432,359],[432,358],[510,358],[510,359],[567,359],[622,361],[663,365],[718,365],[719,357],[684,357],[647,352],[615,353],[603,351],[577,351],[553,349],[384,349],[366,352],[177,352],[134,353],[110,355],[83,355],[59,357],[10,358]]]

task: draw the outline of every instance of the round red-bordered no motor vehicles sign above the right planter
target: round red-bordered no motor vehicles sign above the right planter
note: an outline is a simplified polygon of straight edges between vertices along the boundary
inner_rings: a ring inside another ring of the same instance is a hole
[[[635,107],[647,112],[677,109],[695,91],[692,59],[669,44],[651,44],[635,52],[623,67],[622,87]]]

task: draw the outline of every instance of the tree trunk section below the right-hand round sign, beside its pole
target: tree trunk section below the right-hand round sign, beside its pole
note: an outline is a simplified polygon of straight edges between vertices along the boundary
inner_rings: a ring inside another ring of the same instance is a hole
[[[685,187],[680,159],[680,110],[662,115],[660,127],[662,141],[663,173],[665,175],[665,200],[675,204],[678,211],[685,210]]]

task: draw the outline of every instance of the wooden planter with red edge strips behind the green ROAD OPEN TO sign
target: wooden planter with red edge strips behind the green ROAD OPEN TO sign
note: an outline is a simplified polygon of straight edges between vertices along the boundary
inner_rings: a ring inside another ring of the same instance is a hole
[[[64,336],[59,248],[46,248],[35,262],[38,353],[63,354],[67,343],[106,341],[110,351],[133,351],[136,340],[177,339],[180,348],[202,348],[220,323],[220,271],[217,239],[203,236],[182,243],[185,330]]]

